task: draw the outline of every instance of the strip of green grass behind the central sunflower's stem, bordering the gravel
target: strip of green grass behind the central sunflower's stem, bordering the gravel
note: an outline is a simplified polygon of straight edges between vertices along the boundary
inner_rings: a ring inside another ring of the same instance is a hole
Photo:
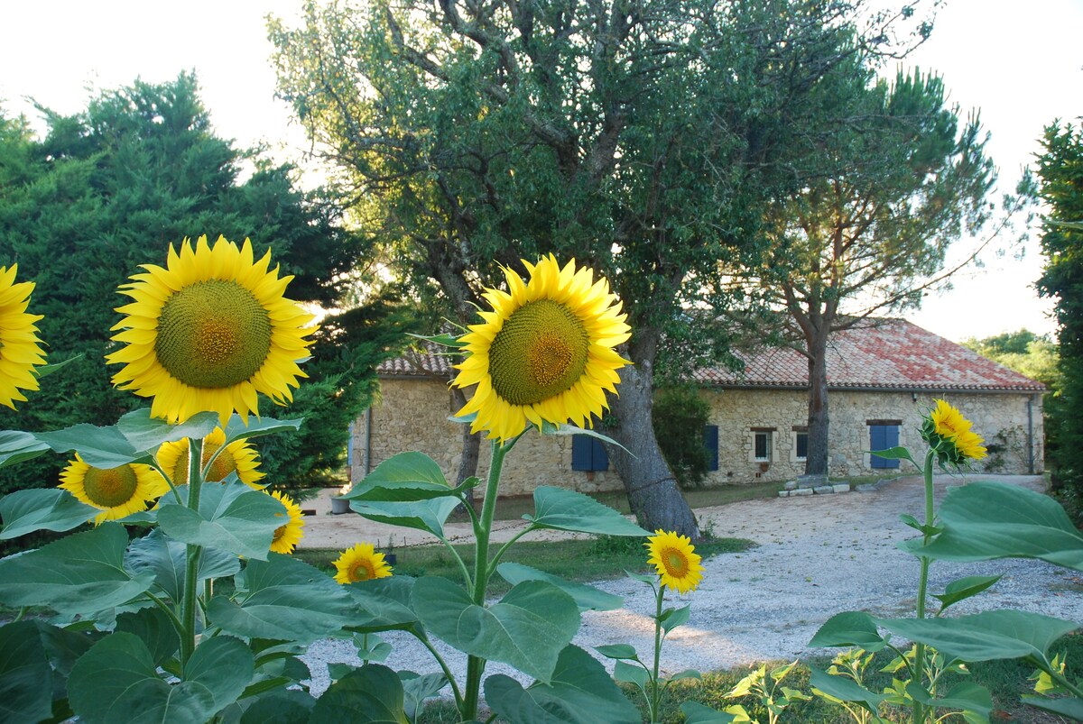
[[[717,538],[696,543],[695,552],[704,558],[719,553],[740,553],[756,545],[743,538]],[[455,547],[467,568],[473,571],[473,544]],[[647,571],[647,555],[642,538],[602,536],[582,540],[519,541],[503,561],[521,563],[571,581],[596,581],[622,578],[625,570]],[[302,549],[293,556],[321,570],[334,572],[335,558],[341,552],[328,549]],[[395,549],[399,576],[442,576],[462,582],[462,572],[451,552],[443,545],[412,545]],[[499,595],[510,587],[494,577],[491,592]]]

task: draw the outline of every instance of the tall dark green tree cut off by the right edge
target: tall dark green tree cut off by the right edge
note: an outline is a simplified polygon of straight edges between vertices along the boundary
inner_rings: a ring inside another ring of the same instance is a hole
[[[1048,406],[1047,458],[1054,479],[1083,496],[1083,127],[1045,130],[1038,176],[1047,213],[1042,224],[1045,271],[1039,291],[1056,299],[1060,395]]]

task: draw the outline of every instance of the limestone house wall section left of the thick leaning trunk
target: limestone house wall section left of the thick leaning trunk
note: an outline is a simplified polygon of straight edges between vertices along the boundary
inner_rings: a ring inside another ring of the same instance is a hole
[[[444,476],[454,481],[462,457],[462,425],[447,420],[457,411],[447,383],[439,379],[384,378],[380,399],[354,424],[351,475],[361,481],[366,471],[400,452],[425,452],[440,464]],[[366,468],[367,452],[367,468]],[[485,478],[490,465],[490,444],[483,439],[478,476]],[[610,471],[572,470],[572,438],[530,433],[505,458],[501,496],[531,495],[539,485],[567,487],[579,492],[616,490],[621,477]],[[484,486],[478,495],[484,493]]]

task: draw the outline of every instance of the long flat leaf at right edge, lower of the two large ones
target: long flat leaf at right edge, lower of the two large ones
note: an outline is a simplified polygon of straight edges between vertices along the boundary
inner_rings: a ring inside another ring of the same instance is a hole
[[[919,641],[964,661],[1035,656],[1048,660],[1049,646],[1078,628],[1041,614],[991,610],[958,618],[876,619],[893,634]]]

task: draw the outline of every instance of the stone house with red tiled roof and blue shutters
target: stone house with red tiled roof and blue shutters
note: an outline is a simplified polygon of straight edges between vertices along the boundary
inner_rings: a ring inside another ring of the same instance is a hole
[[[793,479],[805,471],[808,367],[788,348],[740,355],[744,369],[691,373],[710,405],[704,445],[712,452],[707,485]],[[352,479],[391,456],[419,450],[452,478],[461,455],[461,426],[447,383],[449,358],[410,352],[379,369],[380,398],[354,424]],[[869,450],[903,445],[921,450],[922,413],[935,398],[958,407],[986,438],[979,471],[1041,473],[1044,385],[902,319],[879,319],[837,332],[828,346],[833,477],[893,472],[899,461]],[[619,390],[619,387],[618,387]],[[483,442],[479,471],[487,470]],[[604,447],[586,436],[530,434],[505,461],[501,492],[526,495],[538,485],[583,492],[619,489]]]

